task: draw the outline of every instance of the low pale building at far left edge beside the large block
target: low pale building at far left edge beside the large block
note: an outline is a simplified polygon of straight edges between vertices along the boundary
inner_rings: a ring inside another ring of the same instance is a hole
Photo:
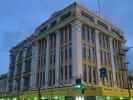
[[[0,75],[0,98],[5,98],[7,94],[7,74]]]

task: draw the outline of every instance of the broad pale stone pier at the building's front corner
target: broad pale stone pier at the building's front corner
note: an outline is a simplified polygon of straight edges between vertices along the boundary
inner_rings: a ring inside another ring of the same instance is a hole
[[[73,81],[82,78],[82,45],[81,45],[81,22],[75,20],[71,23],[72,27],[72,67],[73,67]]]

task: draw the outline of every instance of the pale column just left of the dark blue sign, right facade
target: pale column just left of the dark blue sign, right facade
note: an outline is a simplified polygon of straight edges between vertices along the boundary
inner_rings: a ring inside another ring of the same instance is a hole
[[[100,57],[100,44],[99,44],[99,31],[95,31],[96,36],[96,55],[97,55],[97,71],[98,71],[98,77],[97,82],[99,85],[102,84],[101,78],[100,78],[100,68],[101,68],[101,57]]]

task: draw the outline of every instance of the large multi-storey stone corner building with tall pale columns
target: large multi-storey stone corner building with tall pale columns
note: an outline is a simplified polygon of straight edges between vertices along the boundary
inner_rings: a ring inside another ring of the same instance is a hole
[[[119,28],[73,3],[11,49],[7,97],[127,99],[124,43]]]

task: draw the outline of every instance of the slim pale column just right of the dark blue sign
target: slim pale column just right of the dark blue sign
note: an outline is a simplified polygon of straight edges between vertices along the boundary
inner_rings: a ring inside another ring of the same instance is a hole
[[[113,73],[113,84],[116,87],[116,72],[115,72],[115,63],[114,63],[114,52],[113,52],[113,38],[109,38],[110,43],[110,52],[111,52],[111,62],[112,62],[112,73]]]

